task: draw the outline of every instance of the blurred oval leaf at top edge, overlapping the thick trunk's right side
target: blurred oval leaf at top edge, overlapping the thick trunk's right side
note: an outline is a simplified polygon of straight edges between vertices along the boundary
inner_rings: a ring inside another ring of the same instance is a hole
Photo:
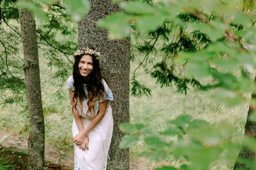
[[[144,13],[153,13],[155,12],[155,8],[148,3],[141,1],[129,1],[123,2],[120,6],[127,12],[136,13],[136,14],[144,14]]]

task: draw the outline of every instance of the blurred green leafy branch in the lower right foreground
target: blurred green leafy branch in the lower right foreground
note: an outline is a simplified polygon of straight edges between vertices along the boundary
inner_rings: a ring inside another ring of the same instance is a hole
[[[175,159],[189,162],[179,168],[163,167],[155,170],[207,170],[224,152],[227,155],[224,159],[232,161],[236,150],[240,148],[239,144],[232,141],[235,129],[228,122],[212,126],[204,120],[192,119],[187,114],[167,122],[166,130],[161,132],[155,132],[150,126],[141,124],[120,125],[120,130],[128,133],[120,142],[120,147],[131,147],[142,140],[147,148],[138,156],[158,162],[172,155]],[[170,141],[166,136],[175,140]],[[244,139],[244,143],[249,143],[253,148],[256,146],[256,141],[251,138]],[[246,164],[251,166],[251,162]]]

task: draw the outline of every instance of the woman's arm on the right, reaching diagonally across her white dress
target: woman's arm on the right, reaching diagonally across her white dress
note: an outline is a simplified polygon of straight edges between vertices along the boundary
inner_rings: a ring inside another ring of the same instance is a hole
[[[93,130],[93,128],[98,125],[98,123],[104,118],[106,110],[107,110],[108,102],[100,102],[99,103],[99,111],[97,116],[93,118],[93,120],[90,122],[90,124],[74,137],[73,142],[75,144],[81,144],[81,142],[84,141],[84,138],[88,135],[88,133]]]

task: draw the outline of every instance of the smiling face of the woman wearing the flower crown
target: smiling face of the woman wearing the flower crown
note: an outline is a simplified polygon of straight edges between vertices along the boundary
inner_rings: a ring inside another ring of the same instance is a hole
[[[93,71],[93,58],[89,54],[84,54],[78,64],[79,72],[84,78],[88,77]]]

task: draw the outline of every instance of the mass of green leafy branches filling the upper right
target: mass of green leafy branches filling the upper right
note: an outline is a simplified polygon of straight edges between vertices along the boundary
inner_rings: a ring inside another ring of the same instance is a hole
[[[249,46],[244,45],[245,39],[247,44],[253,44],[253,38],[248,37],[248,34],[255,34],[251,28],[254,17],[252,14],[240,11],[239,6],[242,3],[239,2],[211,1],[209,4],[201,3],[199,0],[193,3],[186,1],[168,3],[159,1],[154,4],[141,1],[122,2],[120,5],[127,13],[113,14],[100,20],[98,25],[109,28],[111,38],[126,37],[128,33],[121,30],[133,28],[131,35],[135,40],[132,42],[131,51],[135,51],[133,56],[140,62],[138,68],[147,65],[151,67],[146,69],[146,73],[156,78],[161,87],[172,86],[173,82],[175,85],[181,82],[180,87],[183,88],[177,91],[184,93],[191,84],[200,89],[216,88],[221,87],[221,83],[216,83],[219,79],[214,77],[213,72],[234,72],[239,67],[239,63],[242,63],[243,69],[248,72],[250,72],[249,68],[254,67],[255,62],[250,53],[245,50]],[[212,13],[209,14],[207,11]],[[121,22],[124,28],[117,26]],[[115,30],[112,30],[113,27]],[[224,46],[220,46],[219,43]],[[222,50],[223,47],[224,50]],[[141,54],[145,54],[143,59],[138,58]],[[250,61],[242,61],[241,56],[246,56]],[[221,64],[224,62],[233,62],[234,67],[224,67],[224,64]],[[159,63],[166,67],[160,68]],[[166,68],[172,74],[165,74]],[[136,70],[132,79],[135,79]],[[173,76],[170,77],[170,75]],[[213,84],[201,85],[199,80],[209,76],[214,79]],[[194,83],[195,79],[197,83]],[[186,80],[186,84],[183,80]],[[240,80],[237,79],[236,82],[238,81]],[[132,88],[133,95],[135,88]]]

